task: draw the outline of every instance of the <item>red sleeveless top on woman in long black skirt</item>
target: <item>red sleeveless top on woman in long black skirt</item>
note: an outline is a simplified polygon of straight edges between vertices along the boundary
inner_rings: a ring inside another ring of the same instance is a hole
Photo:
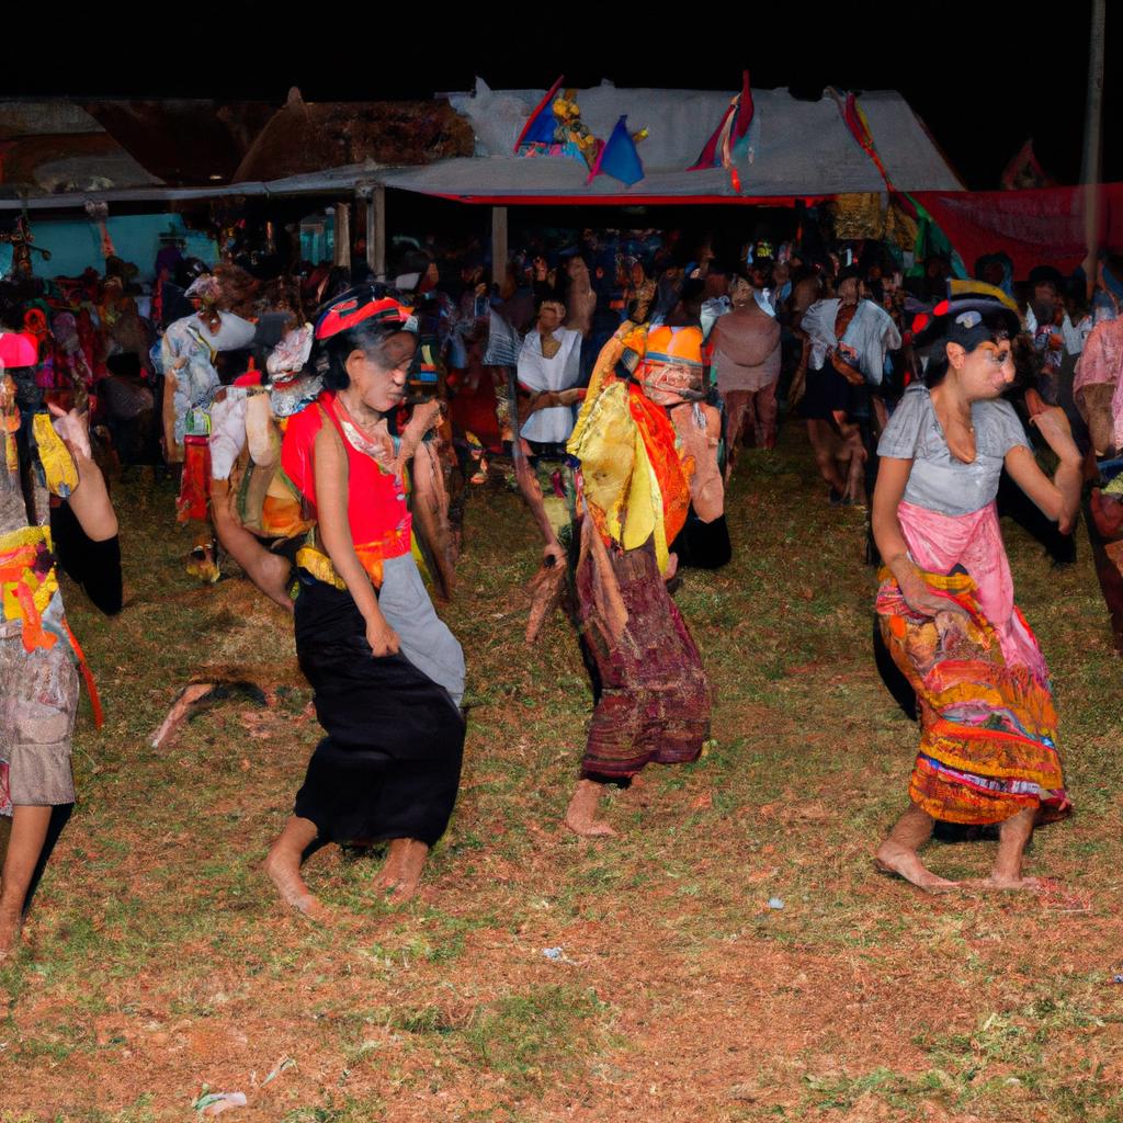
[[[367,444],[363,433],[334,393],[325,391],[312,405],[289,419],[281,445],[281,468],[308,518],[316,519],[316,437],[325,418],[336,427],[347,454],[347,522],[355,553],[377,586],[382,584],[383,560],[410,553],[412,519],[405,487],[401,478],[378,465],[372,453],[363,450]]]

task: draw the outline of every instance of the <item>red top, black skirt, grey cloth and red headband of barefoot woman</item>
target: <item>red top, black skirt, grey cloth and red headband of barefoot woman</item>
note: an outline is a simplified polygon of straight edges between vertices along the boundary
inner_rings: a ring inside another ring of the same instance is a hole
[[[404,330],[396,302],[373,303],[384,305],[373,314]],[[353,307],[349,314],[363,310]],[[330,329],[340,318],[329,312],[325,322]],[[459,784],[463,652],[433,611],[413,558],[400,459],[408,449],[387,431],[374,438],[362,432],[332,392],[291,418],[284,435],[281,466],[304,515],[317,518],[316,438],[323,426],[334,427],[343,442],[355,553],[401,648],[372,657],[363,615],[313,527],[296,555],[296,654],[327,737],[309,763],[294,814],[328,840],[417,839],[431,846],[448,824]]]

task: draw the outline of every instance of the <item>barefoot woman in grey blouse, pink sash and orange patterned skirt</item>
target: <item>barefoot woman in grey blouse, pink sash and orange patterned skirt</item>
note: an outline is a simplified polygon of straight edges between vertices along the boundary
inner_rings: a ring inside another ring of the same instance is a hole
[[[1071,804],[1057,752],[1048,670],[1014,604],[995,495],[1003,466],[1067,531],[1080,492],[1080,453],[1065,414],[1032,419],[1060,458],[1052,480],[1001,395],[1014,378],[1020,325],[996,301],[938,305],[921,348],[924,382],[905,392],[878,447],[873,529],[885,562],[877,594],[882,633],[915,688],[921,747],[912,805],[877,851],[877,866],[926,891],[953,882],[917,855],[935,820],[1001,823],[989,888],[1035,888],[1022,874],[1033,828]]]

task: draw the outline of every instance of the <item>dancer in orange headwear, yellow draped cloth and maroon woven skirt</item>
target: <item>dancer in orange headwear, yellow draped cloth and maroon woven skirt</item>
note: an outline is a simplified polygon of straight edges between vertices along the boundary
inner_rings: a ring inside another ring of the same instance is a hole
[[[701,328],[649,335],[646,323],[626,322],[601,351],[569,439],[579,471],[570,462],[565,478],[555,474],[545,501],[538,486],[522,489],[546,539],[528,638],[551,595],[560,599],[568,560],[594,676],[596,706],[565,813],[577,834],[615,833],[597,818],[605,784],[627,785],[652,761],[695,760],[709,737],[702,659],[666,586],[676,567],[669,545],[692,499],[711,517],[721,512],[716,457],[709,457],[712,471],[695,473],[694,449],[676,439],[687,427],[696,445],[710,439],[707,418],[695,409],[703,381]],[[573,522],[559,519],[565,503]]]

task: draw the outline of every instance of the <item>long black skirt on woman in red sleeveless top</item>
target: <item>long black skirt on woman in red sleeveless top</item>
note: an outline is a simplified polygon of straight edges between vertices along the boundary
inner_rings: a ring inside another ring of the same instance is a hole
[[[403,655],[375,659],[347,592],[300,574],[296,655],[328,734],[294,813],[332,842],[445,833],[460,780],[465,723],[444,686]]]

